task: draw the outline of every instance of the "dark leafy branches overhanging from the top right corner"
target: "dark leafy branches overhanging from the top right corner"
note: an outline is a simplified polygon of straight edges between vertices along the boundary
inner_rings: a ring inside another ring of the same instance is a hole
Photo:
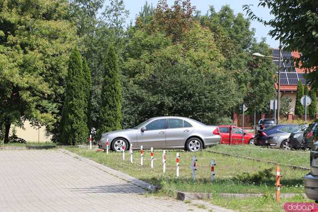
[[[315,71],[318,67],[318,1],[260,0],[258,6],[268,7],[274,18],[264,21],[252,12],[249,5],[243,5],[243,8],[252,20],[270,26],[269,34],[280,38],[286,50],[302,53],[300,58],[294,58],[296,66],[306,68],[308,74],[305,76],[311,87],[318,88],[318,71]]]

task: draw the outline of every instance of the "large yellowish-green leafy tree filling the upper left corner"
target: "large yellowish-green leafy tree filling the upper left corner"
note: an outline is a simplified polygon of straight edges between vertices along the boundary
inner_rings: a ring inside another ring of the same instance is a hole
[[[0,10],[0,126],[28,119],[51,132],[76,39],[68,1],[1,1]]]

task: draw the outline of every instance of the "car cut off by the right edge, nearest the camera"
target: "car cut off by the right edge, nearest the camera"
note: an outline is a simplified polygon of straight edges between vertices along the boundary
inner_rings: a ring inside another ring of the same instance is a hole
[[[318,141],[313,143],[310,152],[310,173],[305,175],[305,192],[309,199],[318,202]]]

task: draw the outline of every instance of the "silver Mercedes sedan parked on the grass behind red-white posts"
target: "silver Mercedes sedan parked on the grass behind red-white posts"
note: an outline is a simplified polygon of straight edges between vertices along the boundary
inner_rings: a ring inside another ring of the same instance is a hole
[[[207,146],[219,144],[221,141],[217,126],[207,126],[193,119],[164,116],[148,119],[134,129],[118,130],[103,133],[98,142],[101,149],[106,149],[109,141],[110,149],[122,151],[129,149],[185,149],[198,151]]]

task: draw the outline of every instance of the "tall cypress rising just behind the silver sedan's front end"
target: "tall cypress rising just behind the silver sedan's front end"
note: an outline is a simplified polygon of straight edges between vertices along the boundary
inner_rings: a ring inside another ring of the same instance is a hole
[[[121,102],[118,59],[110,46],[104,64],[98,134],[121,129]]]

